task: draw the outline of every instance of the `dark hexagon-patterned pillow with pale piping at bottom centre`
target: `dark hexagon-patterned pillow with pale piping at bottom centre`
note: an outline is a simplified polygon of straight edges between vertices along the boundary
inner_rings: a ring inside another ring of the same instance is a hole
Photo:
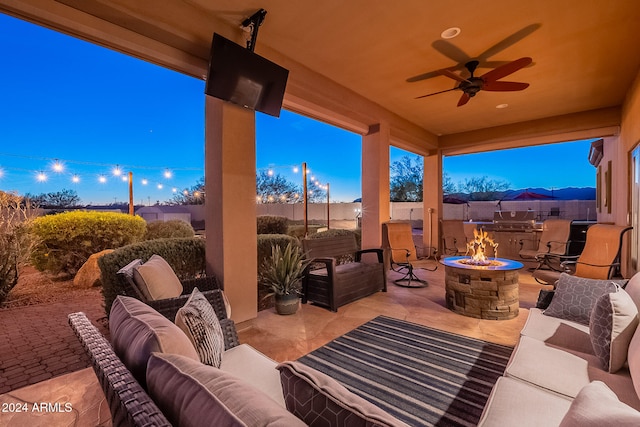
[[[387,414],[322,372],[299,362],[278,365],[289,412],[307,425],[402,427]]]

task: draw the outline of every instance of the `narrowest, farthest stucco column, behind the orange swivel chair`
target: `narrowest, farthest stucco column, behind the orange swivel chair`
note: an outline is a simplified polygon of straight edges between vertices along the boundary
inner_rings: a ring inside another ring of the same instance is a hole
[[[442,219],[442,153],[438,150],[424,156],[422,204],[422,242],[425,256],[434,255],[440,245],[440,219]],[[431,239],[431,240],[429,240]]]

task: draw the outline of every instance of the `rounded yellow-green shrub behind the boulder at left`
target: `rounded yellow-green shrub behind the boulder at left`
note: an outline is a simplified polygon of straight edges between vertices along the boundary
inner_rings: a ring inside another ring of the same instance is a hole
[[[142,239],[144,219],[115,212],[75,211],[47,215],[33,221],[38,239],[31,262],[40,271],[74,275],[89,256]]]

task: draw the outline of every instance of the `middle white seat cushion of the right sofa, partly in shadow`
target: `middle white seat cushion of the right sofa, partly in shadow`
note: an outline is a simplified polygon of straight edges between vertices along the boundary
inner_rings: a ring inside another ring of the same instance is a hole
[[[600,360],[592,354],[575,352],[547,345],[529,337],[521,337],[505,376],[574,399],[591,381],[603,381],[626,404],[638,409],[640,400],[622,369],[611,374],[602,369]]]

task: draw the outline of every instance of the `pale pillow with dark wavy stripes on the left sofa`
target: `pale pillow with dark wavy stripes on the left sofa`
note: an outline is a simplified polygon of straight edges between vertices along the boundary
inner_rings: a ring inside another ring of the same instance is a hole
[[[204,364],[220,367],[224,335],[216,312],[198,288],[176,313],[176,325],[189,337]]]

